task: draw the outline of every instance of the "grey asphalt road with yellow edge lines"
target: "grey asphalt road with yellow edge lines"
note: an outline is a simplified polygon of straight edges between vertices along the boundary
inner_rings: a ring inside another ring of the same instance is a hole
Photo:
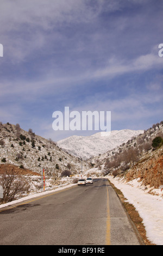
[[[0,209],[0,245],[139,245],[107,179]]]

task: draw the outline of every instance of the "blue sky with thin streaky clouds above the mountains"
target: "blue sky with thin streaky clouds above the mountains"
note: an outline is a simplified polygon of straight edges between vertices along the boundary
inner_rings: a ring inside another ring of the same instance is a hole
[[[163,1],[1,0],[0,121],[59,141],[53,112],[111,111],[111,130],[160,123]],[[100,130],[99,130],[100,131]]]

